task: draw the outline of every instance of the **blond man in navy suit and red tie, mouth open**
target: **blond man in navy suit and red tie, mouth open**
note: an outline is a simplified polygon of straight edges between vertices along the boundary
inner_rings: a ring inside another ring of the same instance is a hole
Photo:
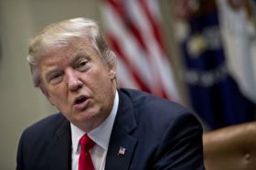
[[[22,134],[16,169],[204,169],[197,119],[174,102],[118,89],[115,55],[90,19],[46,27],[27,60],[59,113]]]

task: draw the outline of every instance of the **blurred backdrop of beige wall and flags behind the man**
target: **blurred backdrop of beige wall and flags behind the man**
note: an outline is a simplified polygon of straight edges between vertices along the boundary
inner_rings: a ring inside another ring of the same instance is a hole
[[[16,167],[20,134],[57,112],[32,84],[30,37],[90,17],[118,56],[119,86],[195,112],[205,132],[255,120],[253,0],[0,0],[0,169]]]

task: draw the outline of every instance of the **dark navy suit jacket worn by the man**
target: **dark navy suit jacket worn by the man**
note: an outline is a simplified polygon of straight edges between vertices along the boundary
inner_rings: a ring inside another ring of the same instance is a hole
[[[119,90],[105,170],[204,169],[202,128],[182,106],[137,90]],[[118,154],[120,147],[124,154]],[[70,125],[61,113],[22,134],[19,170],[71,168]]]

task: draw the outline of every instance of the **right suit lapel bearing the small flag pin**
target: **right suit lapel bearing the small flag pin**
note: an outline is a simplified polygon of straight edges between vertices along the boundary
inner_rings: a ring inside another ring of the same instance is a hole
[[[131,133],[136,128],[131,100],[119,90],[120,102],[106,158],[105,170],[127,170],[133,158],[137,139]]]

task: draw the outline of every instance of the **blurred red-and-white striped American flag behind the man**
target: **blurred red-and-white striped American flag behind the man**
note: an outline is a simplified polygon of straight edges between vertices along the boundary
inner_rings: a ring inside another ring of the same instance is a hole
[[[118,57],[119,86],[179,101],[157,1],[104,0],[102,16],[109,45]]]

